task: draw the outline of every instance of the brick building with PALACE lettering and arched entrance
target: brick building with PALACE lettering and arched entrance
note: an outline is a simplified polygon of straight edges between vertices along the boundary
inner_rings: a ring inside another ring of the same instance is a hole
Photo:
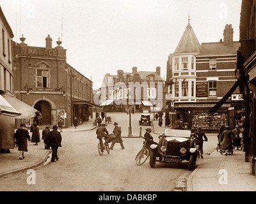
[[[68,127],[74,117],[82,121],[92,117],[92,81],[67,64],[60,39],[54,48],[49,35],[45,47],[28,46],[25,40],[22,36],[21,43],[13,43],[17,98],[42,114],[42,125],[63,120]]]

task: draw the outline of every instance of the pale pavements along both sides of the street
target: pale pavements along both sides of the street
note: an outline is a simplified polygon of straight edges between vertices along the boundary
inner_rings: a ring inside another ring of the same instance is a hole
[[[93,119],[70,128],[63,128],[63,133],[74,131],[88,131],[97,127],[93,126]],[[40,129],[42,135],[42,129]],[[153,132],[156,135],[164,133],[164,127],[159,127],[153,121]],[[38,145],[28,142],[28,152],[25,158],[19,159],[18,148],[10,149],[11,153],[0,153],[0,178],[12,173],[26,171],[44,165],[49,161],[51,150],[44,149],[44,142]],[[230,156],[221,155],[214,150],[209,156],[200,159],[196,169],[186,180],[184,191],[256,191],[256,177],[250,174],[250,163],[244,162],[243,150],[234,150]]]

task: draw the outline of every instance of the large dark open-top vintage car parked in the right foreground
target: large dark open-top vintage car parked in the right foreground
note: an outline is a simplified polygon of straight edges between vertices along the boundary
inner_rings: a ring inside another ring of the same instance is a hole
[[[164,163],[182,163],[188,161],[188,170],[196,167],[197,147],[195,136],[190,130],[165,129],[159,136],[158,145],[150,145],[150,167],[154,168],[156,161]]]

